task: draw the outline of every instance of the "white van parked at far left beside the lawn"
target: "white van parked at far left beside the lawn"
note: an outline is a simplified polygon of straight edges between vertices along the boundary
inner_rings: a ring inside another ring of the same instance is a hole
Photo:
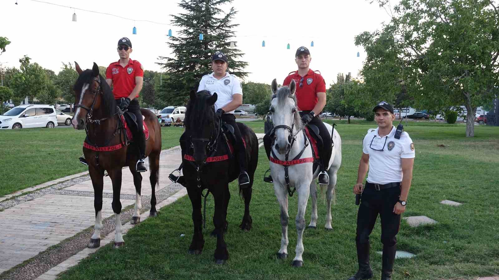
[[[20,105],[0,116],[0,129],[54,128],[57,116],[52,105]]]

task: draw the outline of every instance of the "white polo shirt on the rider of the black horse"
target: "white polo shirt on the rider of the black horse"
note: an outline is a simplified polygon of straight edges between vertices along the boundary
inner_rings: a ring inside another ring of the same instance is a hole
[[[243,95],[243,89],[241,88],[241,82],[238,77],[225,73],[222,79],[216,79],[213,74],[203,76],[199,82],[198,91],[207,90],[213,95],[217,93],[217,102],[215,102],[215,111],[229,104],[234,98],[233,95],[241,94]],[[225,112],[226,114],[234,114],[234,110],[231,112]]]

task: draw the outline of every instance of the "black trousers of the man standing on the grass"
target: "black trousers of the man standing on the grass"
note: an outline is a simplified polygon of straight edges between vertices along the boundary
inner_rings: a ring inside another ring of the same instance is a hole
[[[365,186],[364,186],[365,187]],[[381,218],[381,243],[384,247],[397,244],[400,227],[400,215],[393,213],[393,207],[400,197],[400,186],[382,190],[364,189],[357,213],[357,236],[359,245],[369,246],[371,234],[378,214]]]

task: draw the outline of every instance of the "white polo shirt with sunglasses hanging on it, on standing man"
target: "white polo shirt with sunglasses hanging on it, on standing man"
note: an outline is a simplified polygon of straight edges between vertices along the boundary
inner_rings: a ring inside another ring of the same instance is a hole
[[[369,154],[367,181],[373,184],[402,182],[401,158],[415,157],[414,143],[406,132],[402,133],[400,139],[395,139],[395,127],[385,137],[380,137],[378,130],[369,132],[362,141],[362,151]]]

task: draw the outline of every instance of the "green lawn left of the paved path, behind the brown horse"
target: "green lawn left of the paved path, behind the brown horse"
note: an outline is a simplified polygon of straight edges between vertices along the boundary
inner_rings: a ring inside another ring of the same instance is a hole
[[[162,149],[179,144],[183,128],[161,129]],[[72,128],[0,132],[0,196],[88,170],[78,161],[85,131]]]

